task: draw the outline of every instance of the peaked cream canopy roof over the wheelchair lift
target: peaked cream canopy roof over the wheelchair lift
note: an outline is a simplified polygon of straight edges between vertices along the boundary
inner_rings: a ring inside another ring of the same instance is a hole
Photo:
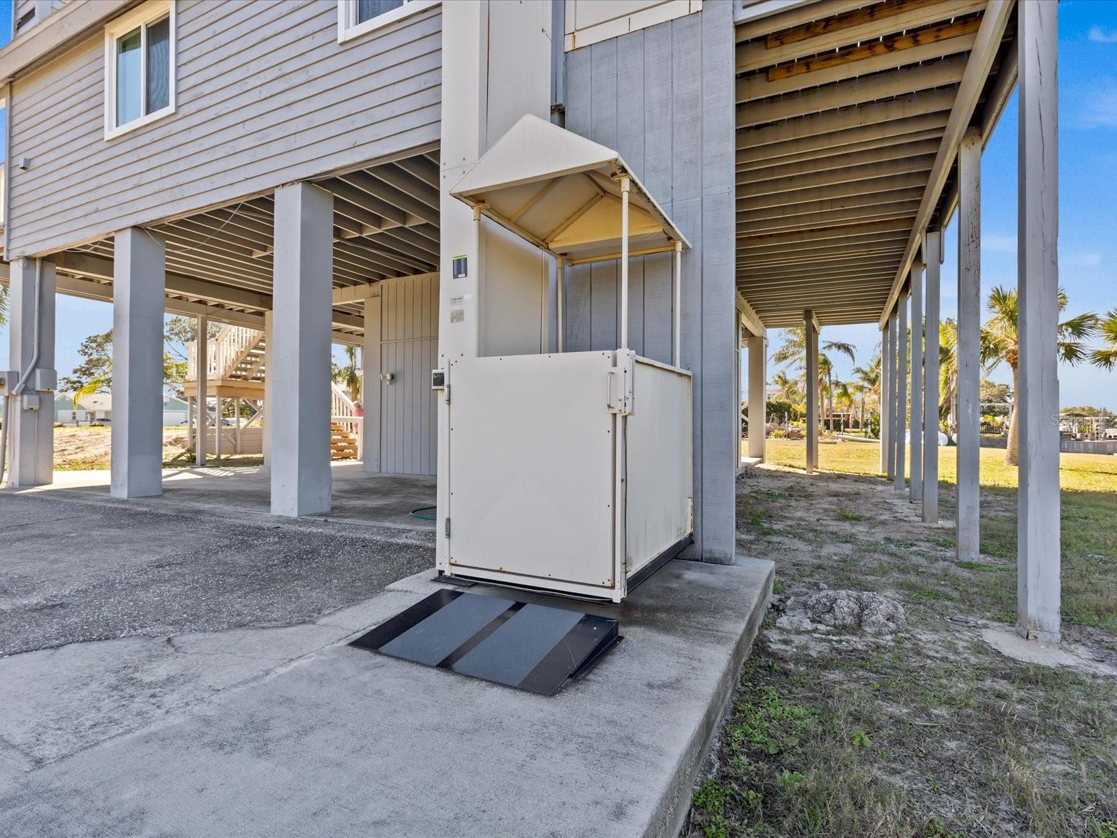
[[[621,253],[621,178],[630,179],[629,254],[690,242],[621,155],[531,114],[477,161],[451,194],[572,265]]]

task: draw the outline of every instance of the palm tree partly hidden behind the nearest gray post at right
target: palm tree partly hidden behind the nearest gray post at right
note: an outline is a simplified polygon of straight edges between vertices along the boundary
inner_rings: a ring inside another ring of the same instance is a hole
[[[1059,311],[1067,307],[1067,293],[1059,289]],[[986,370],[1002,361],[1012,370],[1012,412],[1009,418],[1009,450],[1005,463],[1014,466],[1020,460],[1020,435],[1016,427],[1016,398],[1019,393],[1020,333],[1018,331],[1019,303],[1016,292],[1000,285],[989,294],[992,317],[981,327],[981,360]],[[1082,340],[1097,327],[1098,315],[1079,314],[1065,320],[1056,327],[1056,347],[1060,361],[1071,365],[1087,358]]]

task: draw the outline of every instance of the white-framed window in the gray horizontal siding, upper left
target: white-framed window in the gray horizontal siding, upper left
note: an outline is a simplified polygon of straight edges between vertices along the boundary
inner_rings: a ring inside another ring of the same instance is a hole
[[[105,139],[174,113],[174,0],[105,27]]]

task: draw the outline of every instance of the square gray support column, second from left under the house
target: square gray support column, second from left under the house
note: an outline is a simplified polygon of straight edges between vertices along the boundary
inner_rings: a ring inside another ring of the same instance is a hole
[[[139,227],[113,239],[113,497],[163,494],[163,241]]]

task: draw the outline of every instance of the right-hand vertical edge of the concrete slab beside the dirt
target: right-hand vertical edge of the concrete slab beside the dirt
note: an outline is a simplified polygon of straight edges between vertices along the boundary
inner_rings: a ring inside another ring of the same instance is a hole
[[[761,588],[762,596],[753,607],[748,621],[745,623],[745,630],[741,634],[733,648],[733,654],[725,663],[725,669],[718,679],[717,688],[710,697],[709,705],[706,707],[701,723],[695,730],[690,742],[679,758],[667,788],[659,796],[659,806],[643,830],[643,838],[676,838],[682,830],[684,820],[690,810],[690,794],[695,780],[698,777],[698,771],[706,759],[706,752],[709,751],[714,733],[725,717],[726,708],[733,699],[737,680],[741,678],[741,670],[744,668],[750,651],[752,651],[756,635],[760,634],[761,622],[764,620],[764,615],[767,613],[768,606],[772,602],[775,564],[760,559],[747,559],[744,561],[768,565],[764,584]]]

